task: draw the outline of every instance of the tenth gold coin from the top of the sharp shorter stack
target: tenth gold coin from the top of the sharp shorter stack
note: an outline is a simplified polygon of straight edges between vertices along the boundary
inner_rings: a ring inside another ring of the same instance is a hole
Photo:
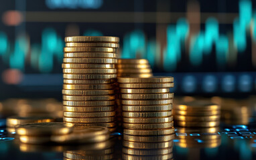
[[[123,133],[127,135],[170,135],[175,133],[175,129],[174,127],[151,130],[123,129]]]

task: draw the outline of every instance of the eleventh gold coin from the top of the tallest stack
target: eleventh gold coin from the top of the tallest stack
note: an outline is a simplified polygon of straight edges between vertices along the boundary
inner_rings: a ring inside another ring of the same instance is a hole
[[[113,95],[111,90],[66,90],[62,89],[62,95]]]

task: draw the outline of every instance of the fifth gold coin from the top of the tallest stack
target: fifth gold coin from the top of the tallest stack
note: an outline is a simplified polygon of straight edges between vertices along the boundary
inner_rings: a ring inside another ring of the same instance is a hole
[[[63,63],[99,63],[99,64],[115,64],[117,59],[107,58],[64,58]]]

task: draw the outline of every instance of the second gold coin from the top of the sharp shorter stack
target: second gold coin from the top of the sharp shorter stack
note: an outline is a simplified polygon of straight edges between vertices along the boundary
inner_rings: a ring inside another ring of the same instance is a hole
[[[120,83],[120,88],[170,88],[174,87],[174,83]]]

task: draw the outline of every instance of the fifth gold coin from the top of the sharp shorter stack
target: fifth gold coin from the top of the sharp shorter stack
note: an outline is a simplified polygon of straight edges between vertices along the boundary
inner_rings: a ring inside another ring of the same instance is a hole
[[[164,100],[121,100],[122,105],[169,105],[172,104],[172,99]]]

